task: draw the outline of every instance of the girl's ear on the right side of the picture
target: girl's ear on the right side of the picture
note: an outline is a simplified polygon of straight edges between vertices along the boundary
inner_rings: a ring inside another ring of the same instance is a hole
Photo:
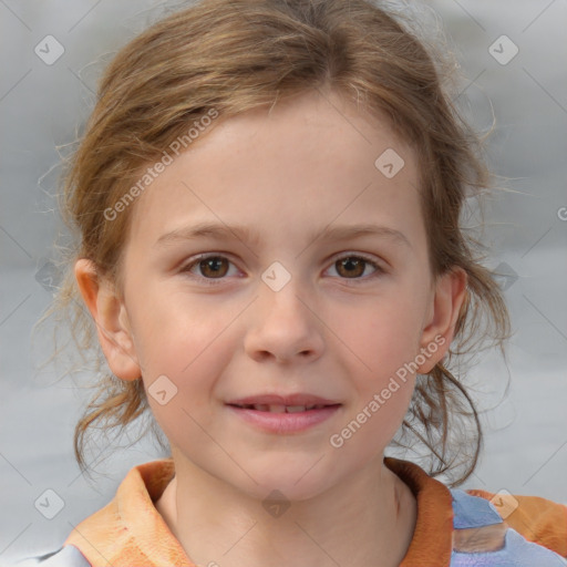
[[[426,354],[419,374],[426,374],[446,354],[455,333],[458,313],[466,299],[467,276],[462,268],[443,274],[434,286],[429,320],[421,336],[421,352]]]

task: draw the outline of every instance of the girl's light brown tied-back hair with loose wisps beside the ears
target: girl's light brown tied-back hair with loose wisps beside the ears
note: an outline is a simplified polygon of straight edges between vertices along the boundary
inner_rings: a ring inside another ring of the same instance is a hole
[[[417,377],[402,426],[403,435],[413,433],[433,454],[432,475],[452,473],[465,453],[465,471],[452,483],[457,485],[475,468],[482,432],[473,400],[449,367],[454,357],[478,351],[487,338],[504,352],[509,321],[495,280],[480,262],[478,240],[460,227],[465,198],[488,186],[482,138],[461,118],[444,86],[454,75],[451,63],[426,45],[411,30],[410,18],[364,0],[203,0],[175,12],[137,35],[107,66],[70,162],[62,209],[80,234],[70,259],[93,260],[120,287],[135,204],[112,220],[105,210],[212,110],[226,118],[278,97],[332,89],[386,116],[419,158],[432,274],[460,267],[468,276],[450,353],[430,374]],[[71,321],[80,350],[94,354],[100,373],[75,429],[75,455],[84,468],[89,427],[123,431],[145,413],[147,400],[142,380],[109,373],[93,321],[78,298],[69,270],[55,309],[71,311],[65,323]]]

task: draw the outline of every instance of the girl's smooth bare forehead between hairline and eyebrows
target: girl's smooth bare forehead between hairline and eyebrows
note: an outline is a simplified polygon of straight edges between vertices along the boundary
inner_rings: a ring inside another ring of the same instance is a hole
[[[398,223],[423,237],[417,164],[385,120],[318,92],[229,118],[161,173],[135,204],[132,234],[158,238],[216,220],[290,228]]]

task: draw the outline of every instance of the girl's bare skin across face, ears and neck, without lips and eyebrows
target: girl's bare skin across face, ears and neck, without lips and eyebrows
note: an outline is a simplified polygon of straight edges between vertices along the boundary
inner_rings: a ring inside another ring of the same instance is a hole
[[[374,166],[386,148],[405,162],[392,178]],[[419,368],[430,371],[453,337],[466,275],[432,277],[417,187],[415,155],[385,120],[333,92],[302,94],[271,112],[219,118],[131,205],[122,291],[89,260],[76,262],[114,374],[142,375],[146,389],[166,375],[177,388],[165,405],[148,396],[176,468],[155,504],[195,563],[403,559],[415,498],[384,466],[383,451],[406,413],[414,375],[341,447],[329,439],[441,336],[444,344]],[[204,220],[241,224],[259,238],[158,244]],[[328,225],[361,224],[399,230],[408,244],[312,237]],[[220,278],[199,269],[203,252],[229,260],[217,265]],[[381,270],[362,262],[352,275],[338,262],[360,255]],[[279,291],[261,279],[274,261],[291,277]],[[268,392],[308,392],[342,406],[296,434],[261,432],[225,406]],[[290,504],[279,517],[262,507],[274,489]]]

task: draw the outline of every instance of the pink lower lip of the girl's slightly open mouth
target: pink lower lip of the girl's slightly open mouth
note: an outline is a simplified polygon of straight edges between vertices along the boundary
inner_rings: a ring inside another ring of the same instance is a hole
[[[260,412],[245,408],[227,405],[243,420],[269,433],[297,433],[328,420],[337,413],[340,405],[328,405],[320,410],[297,413]]]

